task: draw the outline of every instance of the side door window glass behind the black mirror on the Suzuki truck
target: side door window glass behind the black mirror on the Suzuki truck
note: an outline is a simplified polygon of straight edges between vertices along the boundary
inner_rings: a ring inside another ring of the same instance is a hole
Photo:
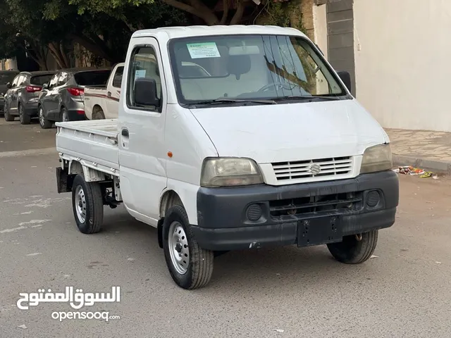
[[[154,79],[156,82],[156,97],[161,100],[161,77],[158,59],[155,50],[149,46],[137,47],[132,53],[130,74],[128,76],[127,104],[134,108],[145,108],[152,111],[159,111],[160,107],[137,106],[135,104],[135,81],[140,77]],[[161,101],[160,101],[161,102]]]

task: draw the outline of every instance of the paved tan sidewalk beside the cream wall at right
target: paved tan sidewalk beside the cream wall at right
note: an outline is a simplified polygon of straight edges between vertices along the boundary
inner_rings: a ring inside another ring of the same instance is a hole
[[[451,132],[385,129],[394,165],[412,165],[451,174]]]

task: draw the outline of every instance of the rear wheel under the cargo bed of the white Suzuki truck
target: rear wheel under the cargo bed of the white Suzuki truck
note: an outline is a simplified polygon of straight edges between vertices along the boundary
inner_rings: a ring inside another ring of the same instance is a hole
[[[80,232],[94,234],[101,230],[104,221],[104,200],[99,183],[85,182],[82,175],[75,176],[72,187],[72,207]]]

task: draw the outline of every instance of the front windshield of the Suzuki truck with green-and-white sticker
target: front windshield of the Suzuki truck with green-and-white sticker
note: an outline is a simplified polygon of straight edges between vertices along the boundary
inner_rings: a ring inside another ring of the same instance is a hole
[[[346,94],[323,58],[302,37],[190,37],[174,39],[169,50],[183,104]]]

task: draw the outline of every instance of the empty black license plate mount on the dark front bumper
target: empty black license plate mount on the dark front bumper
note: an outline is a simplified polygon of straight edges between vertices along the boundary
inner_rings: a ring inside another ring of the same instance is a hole
[[[297,223],[297,246],[341,242],[343,230],[339,216],[307,218]]]

